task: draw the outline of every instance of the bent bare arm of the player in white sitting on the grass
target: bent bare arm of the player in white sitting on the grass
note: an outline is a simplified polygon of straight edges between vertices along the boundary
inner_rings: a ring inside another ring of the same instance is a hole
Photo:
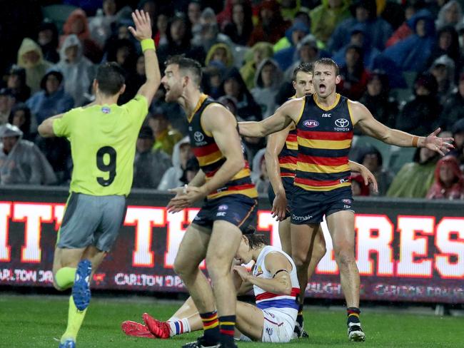
[[[264,279],[251,275],[243,267],[234,266],[233,270],[240,275],[243,281],[250,282],[253,285],[261,287],[261,289],[274,294],[290,295],[292,285],[290,279],[291,263],[281,252],[269,252],[264,259],[266,269],[273,275],[271,279]]]

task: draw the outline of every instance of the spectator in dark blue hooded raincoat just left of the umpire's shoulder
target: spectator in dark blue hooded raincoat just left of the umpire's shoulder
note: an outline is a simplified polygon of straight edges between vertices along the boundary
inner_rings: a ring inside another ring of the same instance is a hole
[[[74,106],[73,98],[64,91],[63,74],[49,71],[41,81],[42,90],[26,101],[37,124],[50,116],[69,111]]]

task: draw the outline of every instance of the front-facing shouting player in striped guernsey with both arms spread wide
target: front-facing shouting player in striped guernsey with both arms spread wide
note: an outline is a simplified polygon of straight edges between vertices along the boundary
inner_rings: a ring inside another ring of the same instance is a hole
[[[453,138],[438,138],[436,131],[419,137],[384,126],[363,104],[336,93],[341,81],[337,64],[321,58],[313,65],[313,96],[295,98],[261,122],[241,122],[243,136],[264,137],[296,124],[298,159],[291,198],[291,255],[298,280],[305,284],[311,244],[326,215],[341,286],[346,298],[348,338],[364,341],[359,310],[360,277],[355,262],[354,211],[348,153],[353,127],[390,145],[427,147],[441,155],[453,148]]]

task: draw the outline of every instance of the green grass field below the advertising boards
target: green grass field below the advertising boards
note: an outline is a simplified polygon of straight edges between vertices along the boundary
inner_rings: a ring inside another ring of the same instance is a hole
[[[149,312],[167,319],[179,302],[123,298],[92,299],[79,333],[77,347],[181,347],[199,332],[173,339],[136,339],[121,332],[123,320],[141,321]],[[2,295],[0,297],[0,347],[58,347],[54,337],[61,337],[66,327],[68,297]],[[363,343],[348,342],[346,314],[343,309],[309,309],[305,311],[305,328],[309,339],[289,344],[240,343],[239,347],[464,347],[464,318],[397,312],[362,314],[367,339]]]

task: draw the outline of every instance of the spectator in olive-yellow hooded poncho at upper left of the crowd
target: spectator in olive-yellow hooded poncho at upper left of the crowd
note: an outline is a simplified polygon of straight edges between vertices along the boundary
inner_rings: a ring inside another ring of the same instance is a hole
[[[18,50],[18,65],[26,69],[26,85],[31,88],[31,93],[40,90],[40,81],[51,67],[49,61],[45,61],[42,50],[32,39],[25,38]]]

